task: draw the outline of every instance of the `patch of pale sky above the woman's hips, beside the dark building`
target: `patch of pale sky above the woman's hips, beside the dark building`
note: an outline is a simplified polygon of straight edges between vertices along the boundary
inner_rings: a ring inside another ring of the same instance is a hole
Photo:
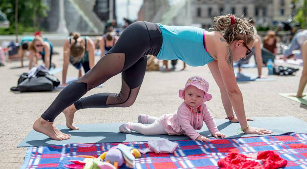
[[[138,19],[138,11],[143,4],[143,0],[130,0],[129,17],[127,17],[127,0],[116,0],[115,3],[117,22],[123,24],[123,18]]]

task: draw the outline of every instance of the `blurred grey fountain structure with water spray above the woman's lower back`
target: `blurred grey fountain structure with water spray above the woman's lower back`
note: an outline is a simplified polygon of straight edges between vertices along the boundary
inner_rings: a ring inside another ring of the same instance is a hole
[[[164,25],[191,26],[190,0],[144,0],[138,20]]]

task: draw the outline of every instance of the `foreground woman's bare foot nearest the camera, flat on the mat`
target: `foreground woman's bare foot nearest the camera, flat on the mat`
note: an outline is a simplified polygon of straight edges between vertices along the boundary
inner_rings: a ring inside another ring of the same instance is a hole
[[[70,139],[70,134],[62,133],[53,122],[49,122],[39,117],[33,124],[33,129],[37,132],[43,133],[53,140],[67,140]]]

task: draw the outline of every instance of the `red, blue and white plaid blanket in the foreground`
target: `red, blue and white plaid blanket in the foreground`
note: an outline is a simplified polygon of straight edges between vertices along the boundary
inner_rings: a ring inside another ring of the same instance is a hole
[[[217,139],[209,142],[177,140],[173,154],[142,155],[135,160],[135,168],[217,168],[217,162],[230,152],[255,155],[272,150],[286,159],[286,168],[307,169],[307,134],[289,133],[281,136]],[[29,147],[21,168],[64,168],[63,161],[74,155],[99,156],[119,143],[66,144],[61,146]],[[124,143],[134,148],[146,148],[147,142]],[[121,168],[126,168],[123,165]]]

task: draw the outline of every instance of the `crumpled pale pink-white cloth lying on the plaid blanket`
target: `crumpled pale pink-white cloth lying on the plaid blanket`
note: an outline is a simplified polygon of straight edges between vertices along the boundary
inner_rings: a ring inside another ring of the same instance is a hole
[[[157,154],[160,153],[173,153],[178,147],[178,143],[174,143],[169,140],[149,140],[148,148],[139,149],[142,154],[146,154],[148,152],[155,152]]]

